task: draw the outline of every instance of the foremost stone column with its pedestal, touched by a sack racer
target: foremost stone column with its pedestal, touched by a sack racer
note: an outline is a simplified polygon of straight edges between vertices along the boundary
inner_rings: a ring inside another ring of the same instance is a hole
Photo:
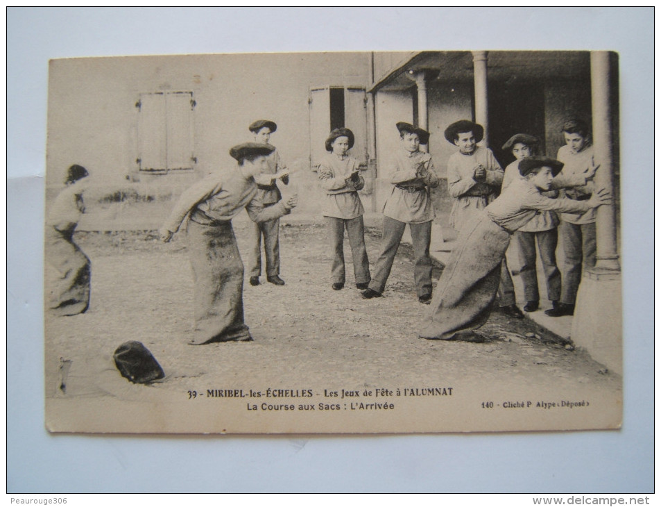
[[[597,187],[612,192],[611,77],[608,51],[590,53],[594,157],[601,165]],[[572,340],[613,372],[622,372],[622,281],[617,256],[614,206],[596,213],[596,265],[583,272],[572,320]]]

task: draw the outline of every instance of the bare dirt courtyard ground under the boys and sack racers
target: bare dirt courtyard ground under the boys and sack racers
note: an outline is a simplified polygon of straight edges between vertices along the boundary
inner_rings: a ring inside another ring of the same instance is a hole
[[[246,219],[235,220],[241,251]],[[480,330],[484,342],[430,341],[417,337],[429,306],[413,288],[410,247],[402,245],[380,299],[365,300],[355,288],[348,242],[347,283],[331,289],[325,228],[309,221],[284,222],[280,231],[281,276],[286,285],[244,287],[246,323],[254,342],[187,344],[192,313],[192,274],[185,235],[164,244],[155,231],[76,233],[92,260],[92,302],[87,313],[46,317],[46,397],[62,394],[58,361],[71,361],[67,396],[141,397],[144,386],[119,376],[112,353],[127,340],[150,349],[166,372],[159,392],[178,395],[198,385],[427,385],[450,379],[472,385],[556,385],[565,392],[621,391],[621,378],[584,351],[574,350],[529,319],[494,311]],[[380,231],[368,228],[370,260],[379,255]],[[243,256],[245,258],[245,256]],[[441,268],[435,267],[434,283]],[[246,372],[246,369],[249,371]]]

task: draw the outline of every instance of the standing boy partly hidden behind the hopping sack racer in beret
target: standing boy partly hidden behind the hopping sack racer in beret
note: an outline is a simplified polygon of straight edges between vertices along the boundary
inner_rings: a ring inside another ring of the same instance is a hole
[[[248,126],[255,142],[268,144],[271,134],[277,125],[268,119],[258,119]],[[277,153],[277,149],[266,157],[266,171],[255,176],[257,183],[257,199],[260,199],[266,208],[280,202],[282,194],[275,184],[277,180],[285,185],[289,183],[289,173]],[[266,257],[266,281],[275,285],[284,285],[280,278],[280,219],[267,222],[254,222],[250,228],[250,250],[248,251],[248,274],[250,285],[259,285],[261,275],[261,237],[264,236],[264,256]]]

